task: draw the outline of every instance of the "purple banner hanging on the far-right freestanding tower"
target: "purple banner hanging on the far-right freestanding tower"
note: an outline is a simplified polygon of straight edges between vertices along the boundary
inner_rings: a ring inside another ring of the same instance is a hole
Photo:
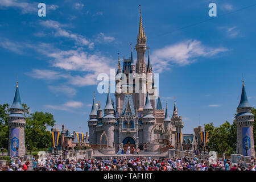
[[[242,154],[243,155],[251,156],[251,138],[250,137],[251,137],[250,127],[243,127],[242,128],[242,150],[243,150]]]

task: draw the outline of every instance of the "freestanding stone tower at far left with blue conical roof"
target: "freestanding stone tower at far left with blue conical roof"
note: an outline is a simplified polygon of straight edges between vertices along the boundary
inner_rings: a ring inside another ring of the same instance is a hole
[[[26,125],[26,117],[24,116],[24,107],[20,102],[19,86],[17,82],[16,92],[13,105],[10,108],[11,114],[8,117],[9,125],[9,144],[8,155],[23,156],[26,154],[24,127]],[[18,152],[16,151],[18,147]]]

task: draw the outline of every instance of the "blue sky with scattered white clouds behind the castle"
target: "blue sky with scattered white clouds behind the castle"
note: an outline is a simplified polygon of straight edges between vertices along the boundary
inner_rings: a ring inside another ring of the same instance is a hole
[[[242,73],[256,104],[255,1],[41,2],[46,17],[38,16],[39,2],[0,0],[1,104],[12,103],[18,75],[32,112],[48,111],[58,127],[88,131],[98,73],[117,68],[117,53],[129,57],[136,44],[138,5],[162,105],[168,101],[171,113],[176,97],[184,133],[193,133],[199,114],[201,125],[233,122]],[[209,17],[210,2],[218,18]],[[105,104],[106,94],[96,93],[96,101]]]

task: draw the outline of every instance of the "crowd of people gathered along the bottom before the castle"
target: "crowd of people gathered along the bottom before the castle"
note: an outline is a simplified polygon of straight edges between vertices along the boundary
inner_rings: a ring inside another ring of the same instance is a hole
[[[11,157],[9,171],[27,171],[28,166],[32,166],[34,171],[255,171],[255,159],[250,160],[250,164],[245,167],[238,163],[231,163],[229,159],[197,159],[173,157],[168,158],[126,158],[121,159],[64,159],[49,156],[44,159],[32,159],[22,165],[20,159],[14,160]]]

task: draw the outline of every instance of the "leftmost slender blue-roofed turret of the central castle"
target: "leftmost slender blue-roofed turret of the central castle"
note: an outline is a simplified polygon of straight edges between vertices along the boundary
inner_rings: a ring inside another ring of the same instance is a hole
[[[93,96],[93,104],[92,104],[92,111],[90,111],[90,119],[88,121],[88,127],[89,127],[89,142],[90,144],[96,144],[97,143],[97,135],[96,135],[96,126],[97,126],[97,109],[96,109],[96,103],[95,103],[95,96]],[[74,134],[74,138],[75,138]],[[75,139],[74,139],[75,140]]]

